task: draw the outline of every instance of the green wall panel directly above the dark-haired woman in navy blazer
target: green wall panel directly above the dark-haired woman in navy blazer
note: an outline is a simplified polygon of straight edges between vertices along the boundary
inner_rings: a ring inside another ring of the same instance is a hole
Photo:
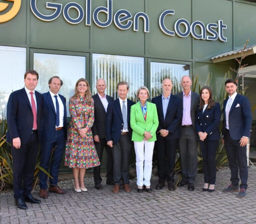
[[[195,62],[195,75],[199,76],[200,85],[204,86],[208,74],[212,75],[211,86],[214,93],[220,89],[220,85],[226,80],[225,74],[228,72],[230,74],[230,65],[224,64],[211,64],[211,63],[201,63]]]

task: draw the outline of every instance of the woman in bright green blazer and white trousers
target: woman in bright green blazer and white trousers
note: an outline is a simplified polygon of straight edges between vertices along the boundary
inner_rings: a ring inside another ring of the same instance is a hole
[[[149,98],[147,87],[142,86],[137,90],[137,98],[139,102],[131,107],[130,124],[136,154],[138,192],[142,193],[143,186],[146,186],[147,192],[152,191],[150,188],[152,157],[159,122],[156,105],[147,102]]]

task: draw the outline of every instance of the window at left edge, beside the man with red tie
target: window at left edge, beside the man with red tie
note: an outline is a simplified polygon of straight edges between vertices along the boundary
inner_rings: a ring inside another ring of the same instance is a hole
[[[6,106],[12,91],[24,87],[26,48],[0,46],[0,118],[6,116]]]

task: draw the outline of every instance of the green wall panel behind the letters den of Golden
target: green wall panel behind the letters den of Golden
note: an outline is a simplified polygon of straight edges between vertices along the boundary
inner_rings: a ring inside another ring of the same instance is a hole
[[[92,1],[92,5],[92,11],[94,11],[99,6],[106,7],[107,0]],[[144,8],[144,0],[113,0],[113,16],[118,10],[125,9],[134,17],[138,12],[145,12]],[[100,21],[105,22],[107,20],[106,14],[100,13],[99,19]],[[130,20],[133,20],[133,18]],[[126,21],[124,24],[125,23]],[[106,28],[98,27],[93,21],[92,24],[92,45],[94,51],[112,52],[121,55],[141,55],[145,53],[145,33],[144,22],[142,19],[139,21],[139,30],[137,32],[133,31],[133,24],[127,30],[118,29],[115,26],[114,21],[112,21]]]

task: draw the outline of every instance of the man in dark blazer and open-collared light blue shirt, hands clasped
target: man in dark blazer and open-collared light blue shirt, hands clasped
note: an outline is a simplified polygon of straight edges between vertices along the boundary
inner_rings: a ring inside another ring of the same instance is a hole
[[[162,83],[163,94],[152,99],[156,104],[159,125],[157,128],[157,171],[158,184],[156,189],[165,186],[165,180],[170,191],[175,190],[174,168],[175,155],[180,137],[180,122],[182,118],[181,100],[171,94],[172,81],[164,79]]]

